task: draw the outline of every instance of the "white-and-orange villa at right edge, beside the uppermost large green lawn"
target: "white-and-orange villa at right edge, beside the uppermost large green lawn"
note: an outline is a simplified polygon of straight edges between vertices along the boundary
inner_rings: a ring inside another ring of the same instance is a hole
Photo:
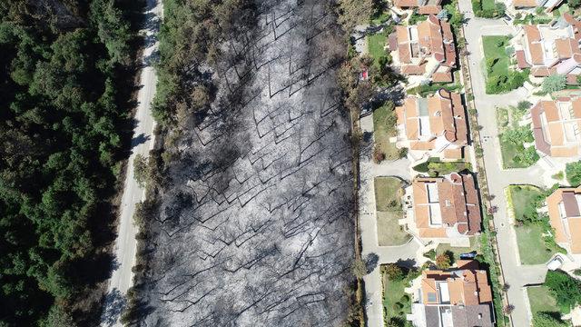
[[[575,84],[581,74],[578,27],[570,15],[548,25],[523,25],[515,46],[518,68],[530,68],[536,77],[564,74]]]

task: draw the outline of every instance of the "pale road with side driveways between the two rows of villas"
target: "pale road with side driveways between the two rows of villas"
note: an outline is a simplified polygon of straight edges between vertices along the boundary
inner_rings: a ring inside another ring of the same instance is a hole
[[[496,197],[492,205],[498,208],[494,220],[497,226],[497,242],[502,263],[503,274],[510,285],[507,292],[508,302],[515,306],[511,316],[514,326],[530,325],[530,317],[527,311],[527,296],[522,286],[543,282],[547,274],[544,264],[524,266],[520,264],[518,257],[517,238],[511,217],[507,213],[507,201],[505,189],[510,184],[531,183],[539,186],[547,186],[550,181],[543,180],[543,169],[534,165],[527,169],[502,169],[497,138],[496,107],[516,105],[519,101],[531,99],[527,90],[519,88],[507,94],[486,94],[483,68],[483,50],[481,47],[481,35],[515,35],[513,26],[506,25],[502,20],[474,18],[470,0],[459,1],[460,11],[468,18],[468,24],[464,26],[465,37],[468,46],[468,63],[475,104],[478,111],[478,124],[483,128],[481,135],[491,136],[487,142],[482,143],[484,159],[490,194]]]

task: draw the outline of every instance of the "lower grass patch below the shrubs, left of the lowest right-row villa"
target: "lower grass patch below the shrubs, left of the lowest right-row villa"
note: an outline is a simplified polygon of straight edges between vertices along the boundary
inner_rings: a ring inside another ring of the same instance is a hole
[[[547,263],[555,254],[554,250],[547,248],[543,241],[543,226],[539,224],[527,224],[516,226],[518,253],[522,264]]]

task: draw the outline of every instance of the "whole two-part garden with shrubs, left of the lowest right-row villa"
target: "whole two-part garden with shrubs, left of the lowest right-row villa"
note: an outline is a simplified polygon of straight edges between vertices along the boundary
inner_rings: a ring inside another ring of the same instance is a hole
[[[547,214],[538,213],[547,193],[531,185],[510,185],[507,188],[507,203],[515,217],[522,264],[547,263],[555,253],[565,253],[555,242]]]

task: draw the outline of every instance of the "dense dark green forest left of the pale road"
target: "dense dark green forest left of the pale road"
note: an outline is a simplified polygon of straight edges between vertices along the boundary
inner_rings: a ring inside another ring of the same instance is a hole
[[[136,3],[0,0],[0,326],[98,314],[133,129],[120,85],[135,74]]]

